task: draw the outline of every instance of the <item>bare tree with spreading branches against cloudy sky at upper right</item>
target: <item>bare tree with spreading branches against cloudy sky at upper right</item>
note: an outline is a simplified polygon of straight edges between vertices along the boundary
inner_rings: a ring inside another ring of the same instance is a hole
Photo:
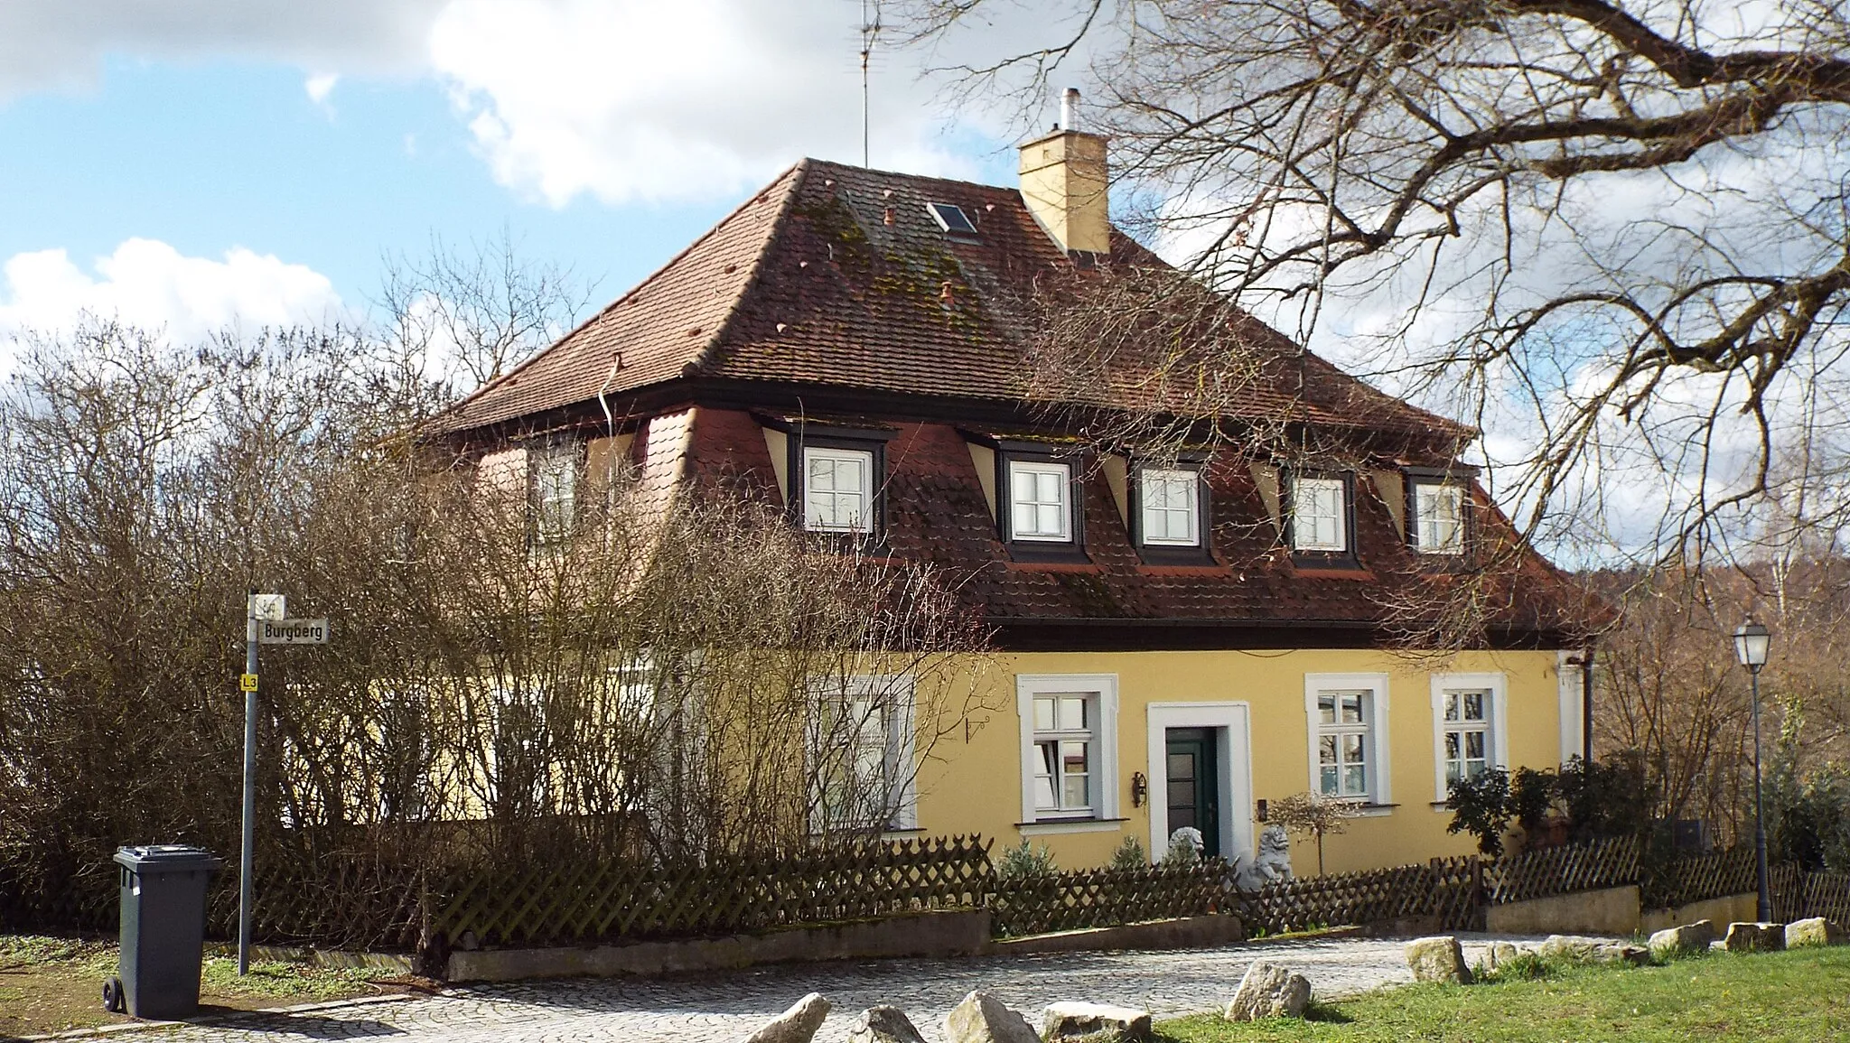
[[[1526,531],[1702,553],[1819,473],[1783,453],[1841,468],[1841,4],[1047,0],[1030,44],[995,0],[903,13],[964,96],[1086,83],[1123,218],[1506,435]]]

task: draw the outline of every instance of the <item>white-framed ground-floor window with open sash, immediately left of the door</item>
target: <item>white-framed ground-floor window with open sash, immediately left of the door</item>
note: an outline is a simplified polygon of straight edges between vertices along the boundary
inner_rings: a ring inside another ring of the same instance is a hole
[[[1117,677],[1016,677],[1021,823],[1117,817]]]

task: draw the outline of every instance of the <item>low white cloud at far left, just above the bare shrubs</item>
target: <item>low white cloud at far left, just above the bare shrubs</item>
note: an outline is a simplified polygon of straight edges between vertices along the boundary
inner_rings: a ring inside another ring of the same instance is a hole
[[[176,340],[228,325],[316,324],[340,314],[333,283],[305,264],[233,248],[222,261],[128,239],[92,272],[65,250],[15,253],[0,266],[0,338],[70,329],[85,314],[163,329]]]

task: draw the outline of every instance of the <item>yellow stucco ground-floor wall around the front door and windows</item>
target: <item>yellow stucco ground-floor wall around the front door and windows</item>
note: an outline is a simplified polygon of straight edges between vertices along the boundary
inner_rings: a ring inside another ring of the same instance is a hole
[[[1504,701],[1504,760],[1554,767],[1561,760],[1560,688],[1554,651],[1462,653],[1443,660],[1397,656],[1365,649],[1315,651],[1153,651],[1153,653],[1001,653],[988,656],[979,688],[993,706],[955,736],[932,747],[919,767],[919,828],[931,834],[980,832],[995,851],[1023,838],[1021,729],[1016,714],[1018,675],[1116,675],[1117,679],[1117,823],[1095,823],[1092,832],[1034,832],[1062,869],[1104,862],[1127,832],[1151,845],[1149,801],[1132,808],[1132,773],[1153,780],[1147,718],[1151,703],[1245,703],[1251,723],[1252,799],[1288,797],[1310,788],[1310,719],[1304,708],[1308,673],[1388,675],[1388,777],[1391,806],[1349,823],[1325,841],[1325,869],[1341,873],[1402,865],[1441,854],[1465,854],[1474,841],[1445,832],[1450,814],[1434,808],[1434,673],[1500,673]],[[1232,766],[1240,771],[1241,751]],[[1252,803],[1234,810],[1251,823]],[[1252,825],[1249,836],[1258,836]],[[1225,854],[1234,854],[1230,851]],[[1160,853],[1160,849],[1156,849]],[[1299,875],[1315,873],[1315,845],[1293,838]]]

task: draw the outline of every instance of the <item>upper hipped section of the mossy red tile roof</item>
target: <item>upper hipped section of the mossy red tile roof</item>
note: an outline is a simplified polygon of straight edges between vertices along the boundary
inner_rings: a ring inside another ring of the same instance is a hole
[[[927,203],[962,207],[977,237],[945,235]],[[1162,264],[1123,235],[1116,244],[1123,263]],[[681,377],[1021,401],[1030,394],[1023,301],[1071,270],[1016,189],[807,159],[559,344],[477,390],[446,427],[514,422]],[[1275,361],[1243,396],[1252,412],[1469,435],[1256,320],[1236,322]]]

